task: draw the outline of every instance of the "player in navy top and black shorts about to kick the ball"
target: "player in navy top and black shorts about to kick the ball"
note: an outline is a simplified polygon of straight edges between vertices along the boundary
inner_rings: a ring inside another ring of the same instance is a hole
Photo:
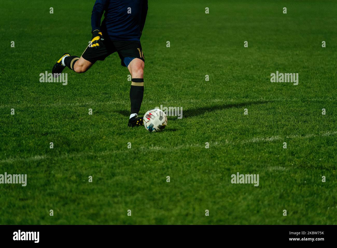
[[[104,20],[101,18],[104,13]],[[69,53],[56,62],[53,75],[67,66],[76,73],[84,73],[97,61],[117,52],[122,66],[131,74],[131,115],[128,126],[143,125],[138,116],[144,94],[144,54],[140,38],[148,11],[148,0],[96,0],[91,15],[91,42],[79,58]]]

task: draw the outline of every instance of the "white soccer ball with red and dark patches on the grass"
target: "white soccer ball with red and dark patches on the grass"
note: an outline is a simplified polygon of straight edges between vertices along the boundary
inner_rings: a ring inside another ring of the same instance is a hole
[[[144,127],[150,132],[159,132],[167,125],[167,117],[160,109],[151,109],[143,117]]]

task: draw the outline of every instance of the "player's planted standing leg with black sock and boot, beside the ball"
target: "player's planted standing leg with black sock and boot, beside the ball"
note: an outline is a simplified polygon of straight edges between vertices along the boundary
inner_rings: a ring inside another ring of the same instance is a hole
[[[143,117],[139,117],[138,113],[141,109],[144,95],[144,61],[139,58],[133,58],[127,68],[132,77],[130,87],[131,115],[128,126],[141,126],[143,125]]]

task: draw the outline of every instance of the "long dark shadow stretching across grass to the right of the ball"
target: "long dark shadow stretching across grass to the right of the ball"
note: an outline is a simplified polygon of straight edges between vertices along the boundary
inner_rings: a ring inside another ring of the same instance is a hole
[[[202,115],[206,112],[211,112],[215,110],[222,110],[222,109],[229,109],[229,108],[241,108],[241,107],[247,107],[250,105],[264,104],[264,103],[269,103],[269,102],[271,101],[251,101],[251,102],[245,102],[245,103],[222,104],[222,105],[213,105],[209,107],[188,109],[185,111],[183,110],[183,118],[194,117],[194,116]]]

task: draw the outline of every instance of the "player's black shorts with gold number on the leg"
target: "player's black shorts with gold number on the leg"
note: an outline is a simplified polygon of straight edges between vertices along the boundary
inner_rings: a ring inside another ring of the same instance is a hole
[[[117,52],[120,59],[121,65],[124,64],[124,58],[139,58],[144,60],[144,54],[142,50],[142,45],[140,41],[137,40],[110,40],[104,39],[103,46],[99,48],[87,47],[82,57],[91,63],[95,63],[97,60],[104,60],[110,54]]]

